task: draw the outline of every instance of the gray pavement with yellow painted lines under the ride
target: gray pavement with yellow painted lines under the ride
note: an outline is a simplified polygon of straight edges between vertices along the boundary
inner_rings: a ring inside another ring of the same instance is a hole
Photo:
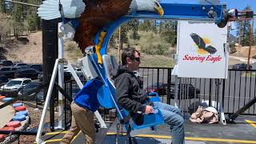
[[[223,126],[219,124],[197,124],[186,120],[185,134],[186,144],[220,144],[220,143],[256,143],[256,117],[240,116],[235,120],[235,124]],[[125,130],[125,129],[123,129]],[[115,122],[104,131],[97,134],[97,143],[116,143]],[[48,133],[43,136],[46,143],[60,142],[66,131]],[[125,134],[125,132],[124,132]],[[137,143],[155,144],[170,143],[170,129],[166,124],[158,126],[157,130],[150,129],[134,130],[131,132]],[[72,143],[84,143],[83,134],[78,134]],[[118,137],[118,143],[129,143],[126,135]]]

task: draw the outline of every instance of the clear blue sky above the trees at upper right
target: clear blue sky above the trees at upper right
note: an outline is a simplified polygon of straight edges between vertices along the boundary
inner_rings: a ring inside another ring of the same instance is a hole
[[[202,1],[202,0],[201,0]],[[214,0],[208,0],[214,1]],[[170,3],[198,3],[199,0],[161,0],[161,2]],[[221,3],[226,3],[227,9],[243,10],[246,6],[250,6],[256,14],[256,0],[220,0]],[[256,29],[256,18],[254,18],[254,30]],[[236,34],[235,30],[231,34]]]

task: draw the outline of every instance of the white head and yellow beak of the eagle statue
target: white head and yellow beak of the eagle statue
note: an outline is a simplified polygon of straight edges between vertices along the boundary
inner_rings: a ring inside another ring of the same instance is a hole
[[[157,12],[160,16],[164,14],[158,0],[133,0],[130,5],[130,12],[135,11]]]

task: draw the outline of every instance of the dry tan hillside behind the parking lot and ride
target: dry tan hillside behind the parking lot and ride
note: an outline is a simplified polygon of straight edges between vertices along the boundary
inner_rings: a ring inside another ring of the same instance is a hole
[[[4,47],[1,53],[6,52],[4,56],[13,62],[26,62],[26,63],[42,63],[42,32],[30,33],[29,36],[12,40],[8,43],[0,44],[0,48]],[[138,48],[139,49],[139,48]],[[1,50],[1,49],[0,49]],[[246,58],[249,47],[237,47],[237,52],[231,54],[232,56]],[[82,58],[77,44],[74,42],[65,43],[65,58],[69,59],[71,63],[75,64],[78,58]],[[109,53],[115,55],[118,59],[118,50],[109,50]],[[252,47],[251,56],[256,55],[256,46]],[[240,62],[237,59],[230,58],[230,65]],[[174,66],[173,58],[165,57],[162,55],[150,55],[142,53],[142,66],[150,67],[171,67]]]

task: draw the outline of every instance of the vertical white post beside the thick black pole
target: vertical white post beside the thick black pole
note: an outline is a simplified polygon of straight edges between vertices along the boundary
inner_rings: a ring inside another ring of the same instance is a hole
[[[62,22],[58,22],[58,58],[64,58],[64,39],[61,27],[63,26]],[[64,69],[63,63],[58,63],[58,86],[61,88],[64,87]],[[58,92],[58,126],[55,129],[64,130],[64,96],[62,93]]]

